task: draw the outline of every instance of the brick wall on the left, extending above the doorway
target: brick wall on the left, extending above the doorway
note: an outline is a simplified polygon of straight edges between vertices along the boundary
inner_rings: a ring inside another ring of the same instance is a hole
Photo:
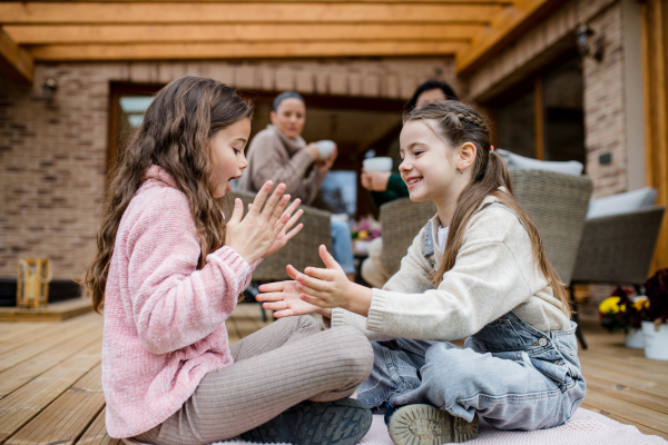
[[[248,90],[402,99],[441,78],[466,95],[448,58],[37,63],[32,87],[0,78],[0,277],[16,277],[19,257],[48,257],[56,279],[82,278],[105,184],[109,82],[184,75]],[[47,78],[58,82],[51,106],[41,100]]]

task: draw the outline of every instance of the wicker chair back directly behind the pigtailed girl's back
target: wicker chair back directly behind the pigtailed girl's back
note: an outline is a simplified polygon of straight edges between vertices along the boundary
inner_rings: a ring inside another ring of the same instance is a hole
[[[510,170],[512,191],[543,241],[559,278],[571,281],[592,182],[587,176],[541,170]]]

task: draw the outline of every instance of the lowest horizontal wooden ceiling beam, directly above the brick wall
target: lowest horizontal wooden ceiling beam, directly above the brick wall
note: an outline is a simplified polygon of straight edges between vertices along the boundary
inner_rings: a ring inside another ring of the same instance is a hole
[[[46,44],[28,47],[35,60],[178,60],[299,57],[453,56],[458,42],[263,42],[175,44]]]

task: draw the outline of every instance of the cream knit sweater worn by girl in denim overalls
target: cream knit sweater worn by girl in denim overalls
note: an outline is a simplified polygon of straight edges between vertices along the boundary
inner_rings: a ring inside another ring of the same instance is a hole
[[[489,196],[482,206],[494,201],[498,199]],[[494,206],[473,215],[454,267],[438,288],[426,278],[442,256],[435,240],[438,215],[430,222],[434,255],[423,255],[423,228],[400,270],[383,289],[373,289],[369,317],[335,308],[332,326],[355,326],[372,340],[454,340],[514,310],[543,332],[570,327],[561,303],[533,263],[527,230],[508,208]]]

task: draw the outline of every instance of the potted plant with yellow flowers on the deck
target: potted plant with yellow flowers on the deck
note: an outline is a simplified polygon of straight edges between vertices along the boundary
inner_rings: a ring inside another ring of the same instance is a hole
[[[599,316],[601,325],[612,334],[623,332],[623,344],[627,347],[641,349],[645,347],[641,322],[647,297],[631,298],[631,289],[618,286],[599,305]]]

